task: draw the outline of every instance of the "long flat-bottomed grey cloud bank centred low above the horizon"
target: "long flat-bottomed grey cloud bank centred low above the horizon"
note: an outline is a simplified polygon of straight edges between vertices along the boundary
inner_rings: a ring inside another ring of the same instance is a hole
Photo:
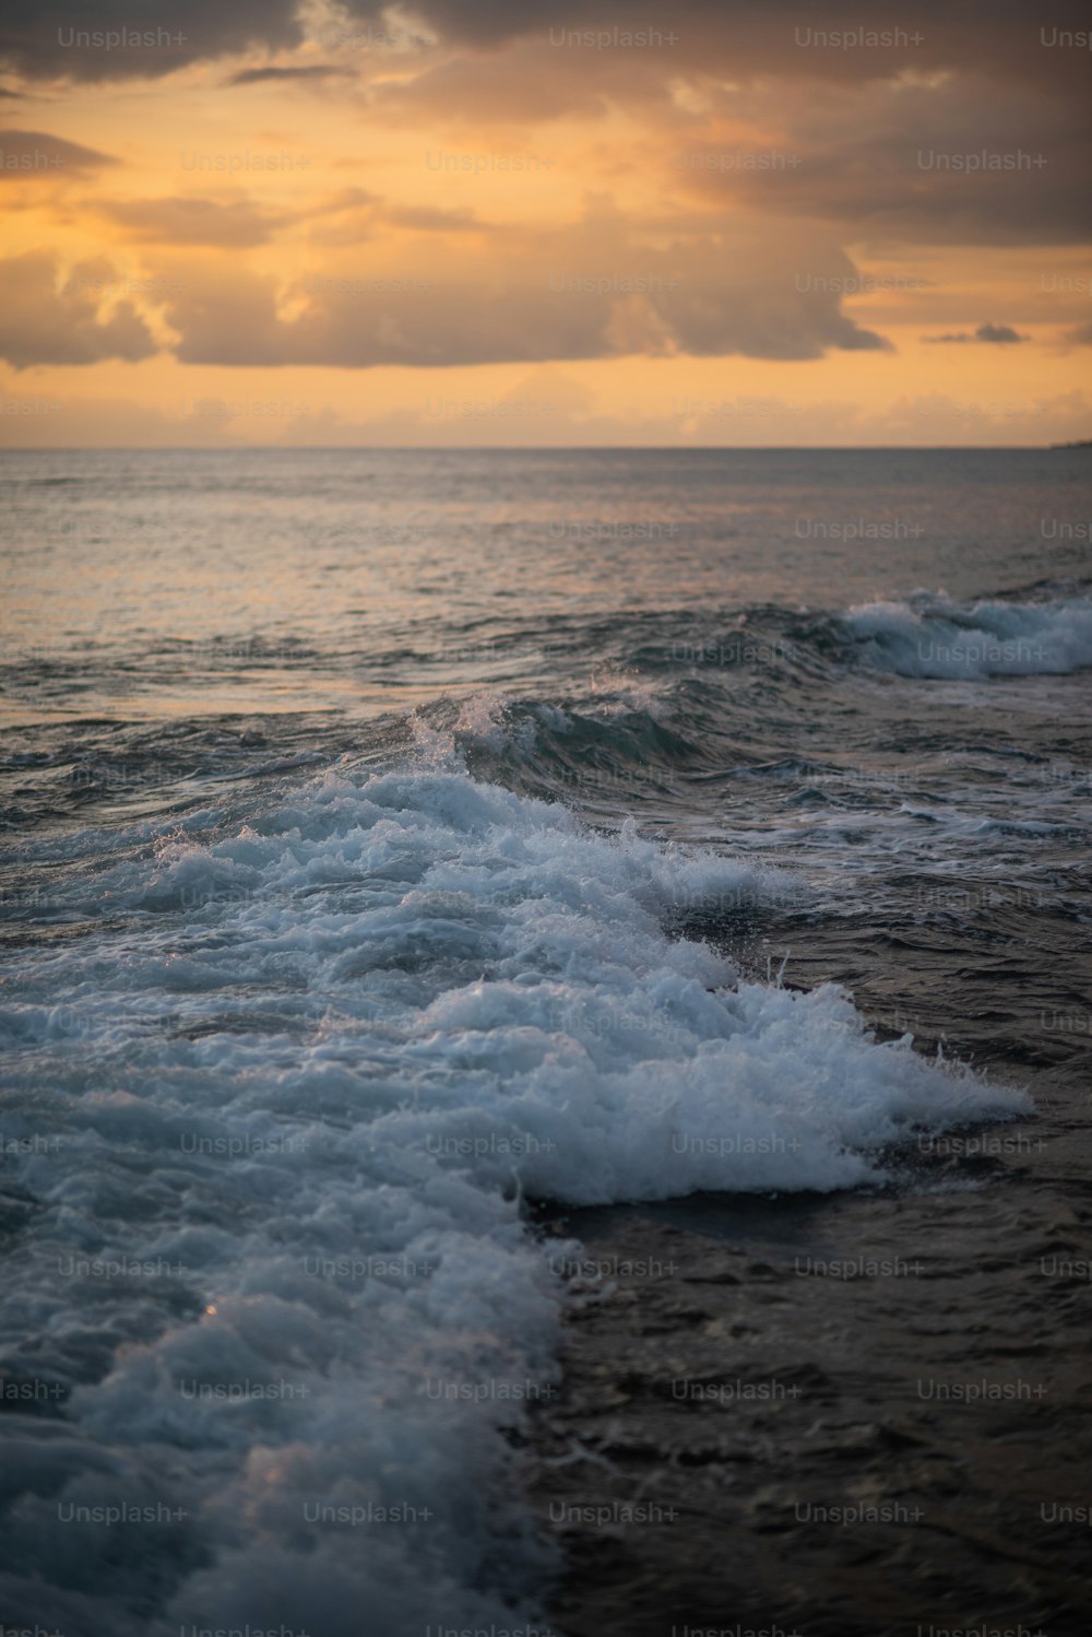
[[[852,264],[816,247],[840,275],[801,290],[791,224],[755,239],[737,223],[669,246],[641,241],[603,200],[554,231],[497,229],[490,254],[461,236],[410,241],[399,262],[312,275],[286,288],[253,272],[199,268],[170,301],[186,363],[454,367],[667,357],[821,359],[830,349],[889,350],[840,309]],[[387,257],[392,254],[384,252]],[[281,316],[288,309],[291,319]]]

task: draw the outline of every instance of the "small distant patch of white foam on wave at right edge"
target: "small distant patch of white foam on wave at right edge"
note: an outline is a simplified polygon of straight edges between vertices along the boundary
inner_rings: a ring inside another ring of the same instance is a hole
[[[1092,665],[1092,601],[951,602],[917,593],[844,619],[871,665],[896,676],[1064,674]]]

